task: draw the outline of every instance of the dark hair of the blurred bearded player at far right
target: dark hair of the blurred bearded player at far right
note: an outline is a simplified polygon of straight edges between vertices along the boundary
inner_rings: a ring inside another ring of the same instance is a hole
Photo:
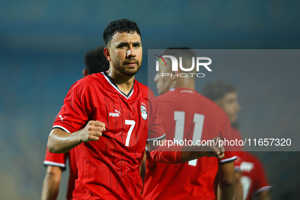
[[[236,86],[226,81],[215,81],[207,84],[202,89],[202,95],[212,101],[223,98],[227,93],[237,91]]]

